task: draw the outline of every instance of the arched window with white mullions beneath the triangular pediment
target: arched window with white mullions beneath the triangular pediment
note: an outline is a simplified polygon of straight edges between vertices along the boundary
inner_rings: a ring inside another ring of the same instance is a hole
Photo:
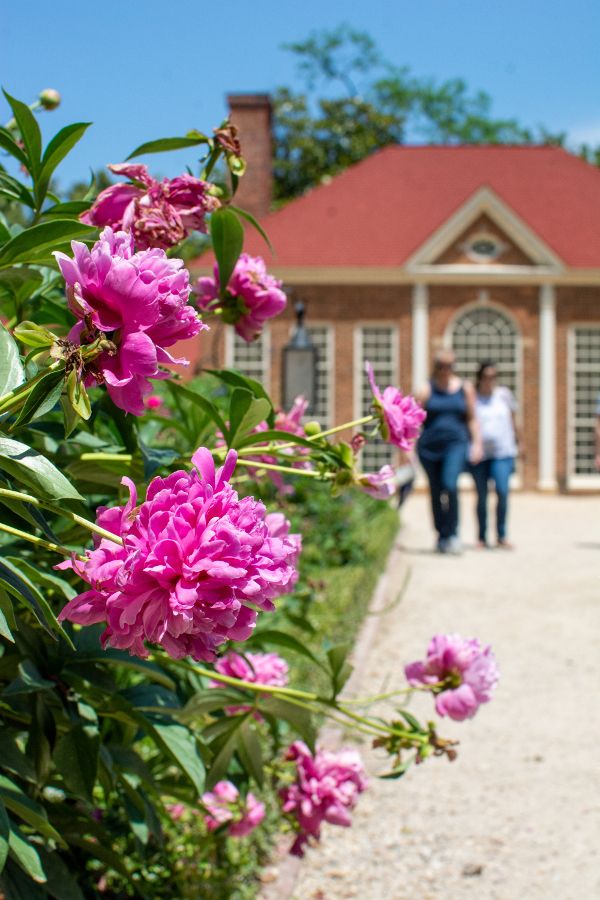
[[[459,375],[474,381],[479,363],[490,359],[498,367],[498,383],[519,398],[519,332],[506,313],[494,306],[473,306],[454,320],[451,339]]]

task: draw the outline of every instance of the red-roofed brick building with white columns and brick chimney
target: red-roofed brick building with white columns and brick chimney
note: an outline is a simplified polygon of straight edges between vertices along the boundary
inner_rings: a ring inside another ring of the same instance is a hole
[[[553,147],[392,146],[265,216],[269,100],[229,99],[249,161],[237,202],[260,215],[275,254],[253,231],[246,249],[306,304],[317,417],[363,414],[366,359],[379,383],[410,390],[452,346],[462,374],[494,359],[517,396],[524,487],[600,488],[600,171]],[[277,400],[292,323],[290,304],[256,343],[217,330],[202,352],[260,377]],[[365,467],[389,452],[373,447]]]

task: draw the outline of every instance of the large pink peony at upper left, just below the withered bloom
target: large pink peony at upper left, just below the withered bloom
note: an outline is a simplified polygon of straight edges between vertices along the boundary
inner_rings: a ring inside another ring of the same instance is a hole
[[[208,327],[188,305],[189,274],[163,250],[135,253],[132,236],[109,227],[91,250],[78,241],[71,246],[73,259],[54,254],[80,320],[69,338],[91,343],[103,333],[114,345],[90,365],[86,384],[106,383],[116,406],[141,415],[149,379],[168,377],[159,366],[187,365],[166,348]]]

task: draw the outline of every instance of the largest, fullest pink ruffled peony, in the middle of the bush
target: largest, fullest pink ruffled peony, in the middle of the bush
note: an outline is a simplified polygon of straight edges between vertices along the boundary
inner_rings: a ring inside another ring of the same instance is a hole
[[[103,645],[133,656],[147,656],[149,641],[175,659],[212,662],[224,641],[246,640],[257,616],[247,604],[271,611],[293,589],[300,536],[253,497],[238,498],[228,482],[236,459],[230,451],[215,471],[201,447],[191,472],[153,478],[139,506],[135,485],[124,478],[128,502],[101,507],[97,517],[123,546],[96,539],[85,562],[60,564],[90,585],[61,621],[106,622]]]

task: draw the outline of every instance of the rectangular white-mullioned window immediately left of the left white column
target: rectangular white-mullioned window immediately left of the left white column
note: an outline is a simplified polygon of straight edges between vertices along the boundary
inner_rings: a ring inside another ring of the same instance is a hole
[[[359,415],[366,416],[373,405],[373,393],[365,372],[365,363],[373,366],[375,381],[383,390],[397,383],[397,330],[391,325],[364,325],[358,332],[358,362],[360,393]],[[379,469],[395,460],[394,448],[380,438],[369,440],[362,452],[362,467],[367,472]]]

